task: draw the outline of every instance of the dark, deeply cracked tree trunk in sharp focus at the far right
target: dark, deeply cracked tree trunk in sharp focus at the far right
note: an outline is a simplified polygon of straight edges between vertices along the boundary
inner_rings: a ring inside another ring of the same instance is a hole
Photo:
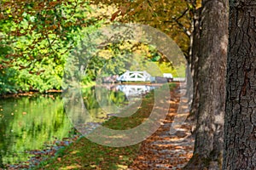
[[[255,22],[255,1],[230,1],[224,169],[256,169]]]

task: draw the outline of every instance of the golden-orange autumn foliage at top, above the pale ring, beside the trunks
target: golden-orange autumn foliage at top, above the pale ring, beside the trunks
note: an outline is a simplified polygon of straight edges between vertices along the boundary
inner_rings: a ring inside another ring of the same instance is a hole
[[[102,4],[116,5],[118,10],[112,14],[112,21],[122,23],[140,23],[165,32],[189,55],[189,36],[191,15],[190,3],[180,0],[95,0],[99,7]]]

